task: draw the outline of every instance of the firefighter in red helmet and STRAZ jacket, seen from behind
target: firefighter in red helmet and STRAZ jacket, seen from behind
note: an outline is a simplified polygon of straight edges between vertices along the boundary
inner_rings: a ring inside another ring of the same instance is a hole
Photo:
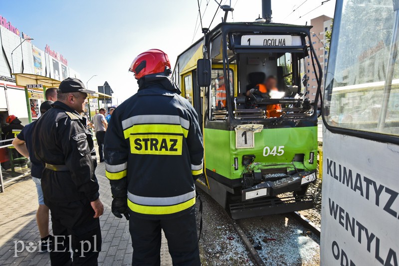
[[[200,265],[194,182],[202,174],[202,134],[170,67],[158,49],[133,60],[139,90],[115,109],[105,134],[111,209],[130,217],[133,265],[160,265],[161,229],[174,265]]]

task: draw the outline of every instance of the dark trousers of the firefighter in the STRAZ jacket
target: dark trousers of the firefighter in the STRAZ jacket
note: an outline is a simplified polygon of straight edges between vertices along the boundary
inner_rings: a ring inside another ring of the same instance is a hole
[[[130,212],[129,231],[132,236],[132,265],[161,264],[161,229],[168,240],[173,265],[200,266],[195,208],[178,218],[146,220]]]

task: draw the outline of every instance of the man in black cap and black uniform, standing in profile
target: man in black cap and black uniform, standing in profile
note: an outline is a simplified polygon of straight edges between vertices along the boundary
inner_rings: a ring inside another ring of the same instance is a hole
[[[67,78],[58,88],[54,108],[40,118],[33,132],[36,157],[45,163],[41,176],[44,203],[51,211],[54,241],[51,265],[97,265],[101,251],[97,165],[91,133],[80,115],[87,104],[82,81]]]

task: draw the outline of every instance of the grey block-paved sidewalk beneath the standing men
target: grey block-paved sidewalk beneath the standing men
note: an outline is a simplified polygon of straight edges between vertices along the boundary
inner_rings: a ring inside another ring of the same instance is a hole
[[[100,217],[102,247],[98,258],[99,265],[131,265],[132,240],[129,223],[126,219],[114,217],[111,213],[111,189],[105,177],[105,164],[99,163],[96,176],[100,185],[100,199],[104,204],[104,214]],[[26,250],[14,258],[14,241],[39,241],[36,225],[37,194],[30,177],[18,179],[0,193],[0,265],[50,265],[48,253],[29,253]],[[51,228],[51,223],[50,223]],[[18,245],[21,250],[21,245]],[[161,265],[171,266],[165,237],[162,238]]]

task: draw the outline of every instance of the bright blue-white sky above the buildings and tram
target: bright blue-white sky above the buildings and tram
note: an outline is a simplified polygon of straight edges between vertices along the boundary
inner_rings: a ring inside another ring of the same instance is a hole
[[[215,0],[199,1],[203,27],[218,9],[213,28],[222,10]],[[319,15],[333,17],[335,0],[323,1],[272,0],[272,21],[309,25]],[[261,13],[261,0],[231,0],[231,5],[227,21],[253,21]],[[107,81],[119,104],[138,89],[128,71],[133,59],[157,48],[169,55],[173,68],[177,56],[201,38],[198,13],[197,0],[3,0],[0,7],[0,15],[34,38],[35,46],[44,50],[48,44],[62,54],[84,84],[97,75],[89,89],[97,91]]]

